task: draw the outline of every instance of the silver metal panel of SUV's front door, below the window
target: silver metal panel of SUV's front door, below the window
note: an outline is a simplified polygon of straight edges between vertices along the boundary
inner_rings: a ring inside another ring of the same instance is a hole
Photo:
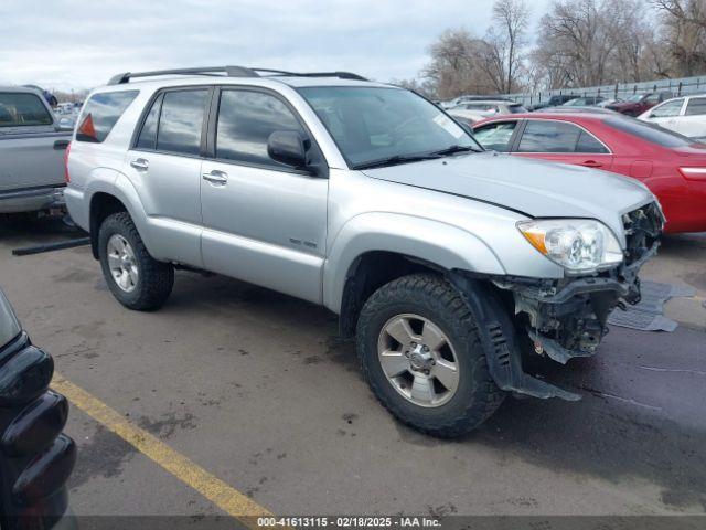
[[[329,180],[204,161],[212,171],[227,183],[200,179],[204,267],[320,304]]]

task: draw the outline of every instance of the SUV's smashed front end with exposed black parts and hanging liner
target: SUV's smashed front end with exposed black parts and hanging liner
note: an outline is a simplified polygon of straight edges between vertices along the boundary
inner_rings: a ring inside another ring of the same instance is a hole
[[[591,276],[563,279],[526,277],[493,277],[492,284],[509,293],[514,301],[514,319],[510,324],[499,310],[483,309],[492,294],[475,296],[479,283],[457,278],[454,283],[466,294],[479,318],[481,340],[495,356],[489,356],[489,368],[503,390],[536,398],[561,398],[575,401],[579,396],[532,378],[522,369],[517,333],[526,332],[534,352],[566,363],[577,357],[590,357],[608,332],[608,317],[616,308],[640,301],[638,273],[656,254],[664,218],[653,203],[623,216],[627,247],[623,262],[611,269]],[[482,292],[482,289],[481,289]],[[495,300],[495,309],[499,300]],[[507,306],[507,304],[505,304]],[[498,350],[499,343],[504,348]],[[493,358],[495,357],[495,358]]]

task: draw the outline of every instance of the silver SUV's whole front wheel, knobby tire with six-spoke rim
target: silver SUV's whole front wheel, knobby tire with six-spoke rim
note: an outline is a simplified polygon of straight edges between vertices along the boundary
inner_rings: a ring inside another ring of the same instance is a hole
[[[361,311],[357,351],[381,403],[436,436],[472,431],[505,395],[489,374],[468,305],[438,276],[405,276],[375,292]]]

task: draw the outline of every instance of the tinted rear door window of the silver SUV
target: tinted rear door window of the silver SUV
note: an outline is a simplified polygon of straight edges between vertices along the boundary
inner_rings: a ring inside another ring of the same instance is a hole
[[[158,151],[199,155],[207,96],[207,88],[164,93],[157,131]]]

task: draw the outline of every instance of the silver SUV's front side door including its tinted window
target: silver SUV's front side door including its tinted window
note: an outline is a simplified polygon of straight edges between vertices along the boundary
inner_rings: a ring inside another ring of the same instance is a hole
[[[208,129],[201,178],[205,268],[320,303],[329,181],[267,152],[272,132],[295,130],[323,160],[303,121],[274,92],[223,87]]]

